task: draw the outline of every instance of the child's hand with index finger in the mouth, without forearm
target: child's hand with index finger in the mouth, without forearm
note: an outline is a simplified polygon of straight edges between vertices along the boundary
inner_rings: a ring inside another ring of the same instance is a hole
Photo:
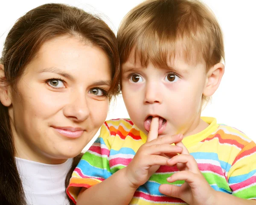
[[[160,165],[167,165],[169,157],[166,154],[181,153],[182,148],[171,145],[182,140],[182,135],[158,137],[158,117],[153,117],[148,133],[147,142],[142,145],[134,158],[125,168],[125,176],[131,182],[132,188],[145,184]]]

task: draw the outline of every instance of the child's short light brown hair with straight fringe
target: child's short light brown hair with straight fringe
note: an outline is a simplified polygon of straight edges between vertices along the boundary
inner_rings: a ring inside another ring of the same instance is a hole
[[[132,54],[135,63],[169,67],[178,56],[208,71],[224,60],[218,21],[198,0],[146,0],[122,20],[117,41],[121,64]]]

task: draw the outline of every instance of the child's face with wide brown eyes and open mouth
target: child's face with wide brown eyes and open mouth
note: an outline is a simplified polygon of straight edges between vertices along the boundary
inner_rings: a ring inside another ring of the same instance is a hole
[[[131,120],[145,133],[151,116],[160,117],[159,135],[186,135],[198,128],[207,83],[205,66],[177,59],[172,67],[152,63],[141,67],[132,59],[122,64],[122,96]]]

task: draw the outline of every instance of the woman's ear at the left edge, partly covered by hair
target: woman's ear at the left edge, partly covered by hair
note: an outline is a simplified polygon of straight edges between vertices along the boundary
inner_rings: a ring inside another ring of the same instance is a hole
[[[11,87],[6,84],[3,64],[0,64],[0,101],[6,107],[12,104]]]

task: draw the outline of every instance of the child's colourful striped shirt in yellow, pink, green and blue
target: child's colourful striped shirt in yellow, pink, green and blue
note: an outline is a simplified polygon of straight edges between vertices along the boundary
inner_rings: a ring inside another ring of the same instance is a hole
[[[202,117],[209,126],[182,142],[198,168],[216,191],[244,199],[256,199],[256,144],[241,131],[218,125],[215,118]],[[67,194],[76,202],[81,187],[89,188],[110,177],[131,162],[146,142],[146,135],[131,120],[116,119],[102,125],[99,138],[84,154],[72,174]],[[176,166],[160,166],[134,193],[130,204],[186,204],[161,194],[158,188],[177,172]],[[184,181],[172,184],[180,186]]]

